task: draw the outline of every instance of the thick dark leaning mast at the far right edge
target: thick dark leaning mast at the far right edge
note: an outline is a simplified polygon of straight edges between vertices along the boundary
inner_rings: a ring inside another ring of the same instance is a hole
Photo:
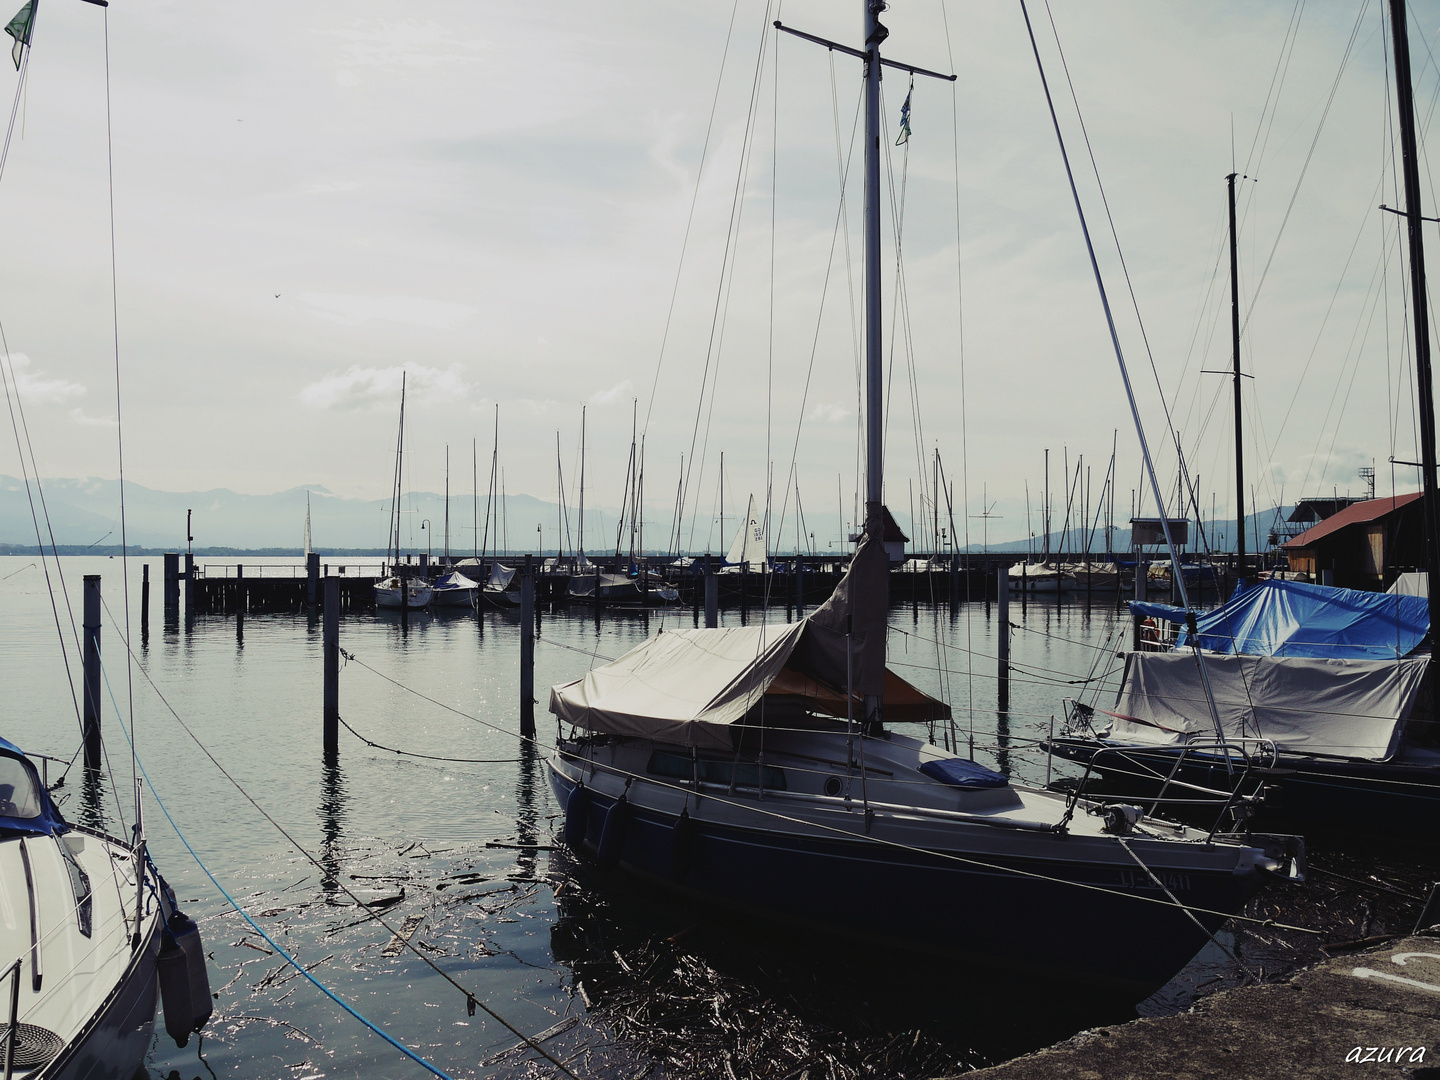
[[[1416,392],[1420,397],[1420,480],[1424,485],[1426,592],[1430,595],[1430,658],[1440,658],[1440,497],[1436,495],[1436,403],[1430,382],[1430,308],[1420,217],[1420,167],[1416,154],[1416,102],[1410,86],[1410,33],[1404,0],[1390,0],[1395,48],[1395,105],[1405,171],[1405,219],[1410,230],[1410,294],[1416,314]]]

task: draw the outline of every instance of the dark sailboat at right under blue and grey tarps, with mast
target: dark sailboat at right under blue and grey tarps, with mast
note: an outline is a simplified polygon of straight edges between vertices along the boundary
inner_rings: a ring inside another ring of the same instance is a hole
[[[1416,393],[1420,415],[1426,577],[1440,580],[1434,397],[1424,279],[1420,174],[1405,6],[1390,4],[1405,206],[1410,226]],[[1231,281],[1234,176],[1230,181]],[[1236,425],[1240,406],[1240,317],[1231,285]],[[1237,436],[1238,459],[1238,436]],[[1237,461],[1238,465],[1238,461]],[[1237,472],[1238,494],[1244,485]],[[1244,503],[1238,564],[1244,567]],[[1132,603],[1136,618],[1185,628],[1174,649],[1133,652],[1112,710],[1070,703],[1053,749],[1086,763],[1112,789],[1153,796],[1181,785],[1191,796],[1228,798],[1236,766],[1257,799],[1256,821],[1380,838],[1434,840],[1440,821],[1440,724],[1434,665],[1440,589],[1428,599],[1267,580],[1237,592],[1189,624],[1181,609]],[[1197,707],[1207,680],[1214,708]],[[1197,742],[1240,747],[1240,762]]]

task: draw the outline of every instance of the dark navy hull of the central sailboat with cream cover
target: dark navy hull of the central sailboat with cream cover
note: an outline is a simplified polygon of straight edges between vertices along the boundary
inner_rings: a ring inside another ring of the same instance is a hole
[[[567,805],[579,772],[552,759],[550,778]],[[690,822],[678,827],[678,814],[645,805],[645,786],[632,783],[628,795],[624,842],[612,855],[622,870],[691,899],[886,948],[1139,1001],[1185,966],[1205,945],[1205,930],[1224,922],[1198,914],[1202,930],[1174,906],[1153,903],[1165,900],[1164,890],[1135,861],[1117,861],[1113,842],[1093,860],[1076,857],[1084,840],[1005,829],[979,829],[989,837],[971,847],[901,848],[721,822],[706,816],[704,798],[690,804]],[[586,791],[582,848],[603,861],[616,799]],[[688,834],[684,857],[677,857],[677,828]],[[996,834],[1004,834],[998,845]],[[1211,912],[1237,912],[1260,887],[1259,874],[1237,873],[1224,858],[1156,874],[1184,903]]]

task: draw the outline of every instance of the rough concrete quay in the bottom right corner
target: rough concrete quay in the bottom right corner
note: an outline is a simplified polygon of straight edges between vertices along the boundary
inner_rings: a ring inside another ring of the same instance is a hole
[[[1440,1077],[1440,937],[1333,956],[1189,1011],[1081,1031],[984,1080]]]

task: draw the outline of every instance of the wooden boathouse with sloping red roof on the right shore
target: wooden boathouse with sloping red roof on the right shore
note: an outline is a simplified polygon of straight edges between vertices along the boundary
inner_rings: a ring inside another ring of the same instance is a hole
[[[1290,572],[1342,589],[1385,589],[1423,560],[1420,498],[1371,498],[1331,514],[1282,546]]]

